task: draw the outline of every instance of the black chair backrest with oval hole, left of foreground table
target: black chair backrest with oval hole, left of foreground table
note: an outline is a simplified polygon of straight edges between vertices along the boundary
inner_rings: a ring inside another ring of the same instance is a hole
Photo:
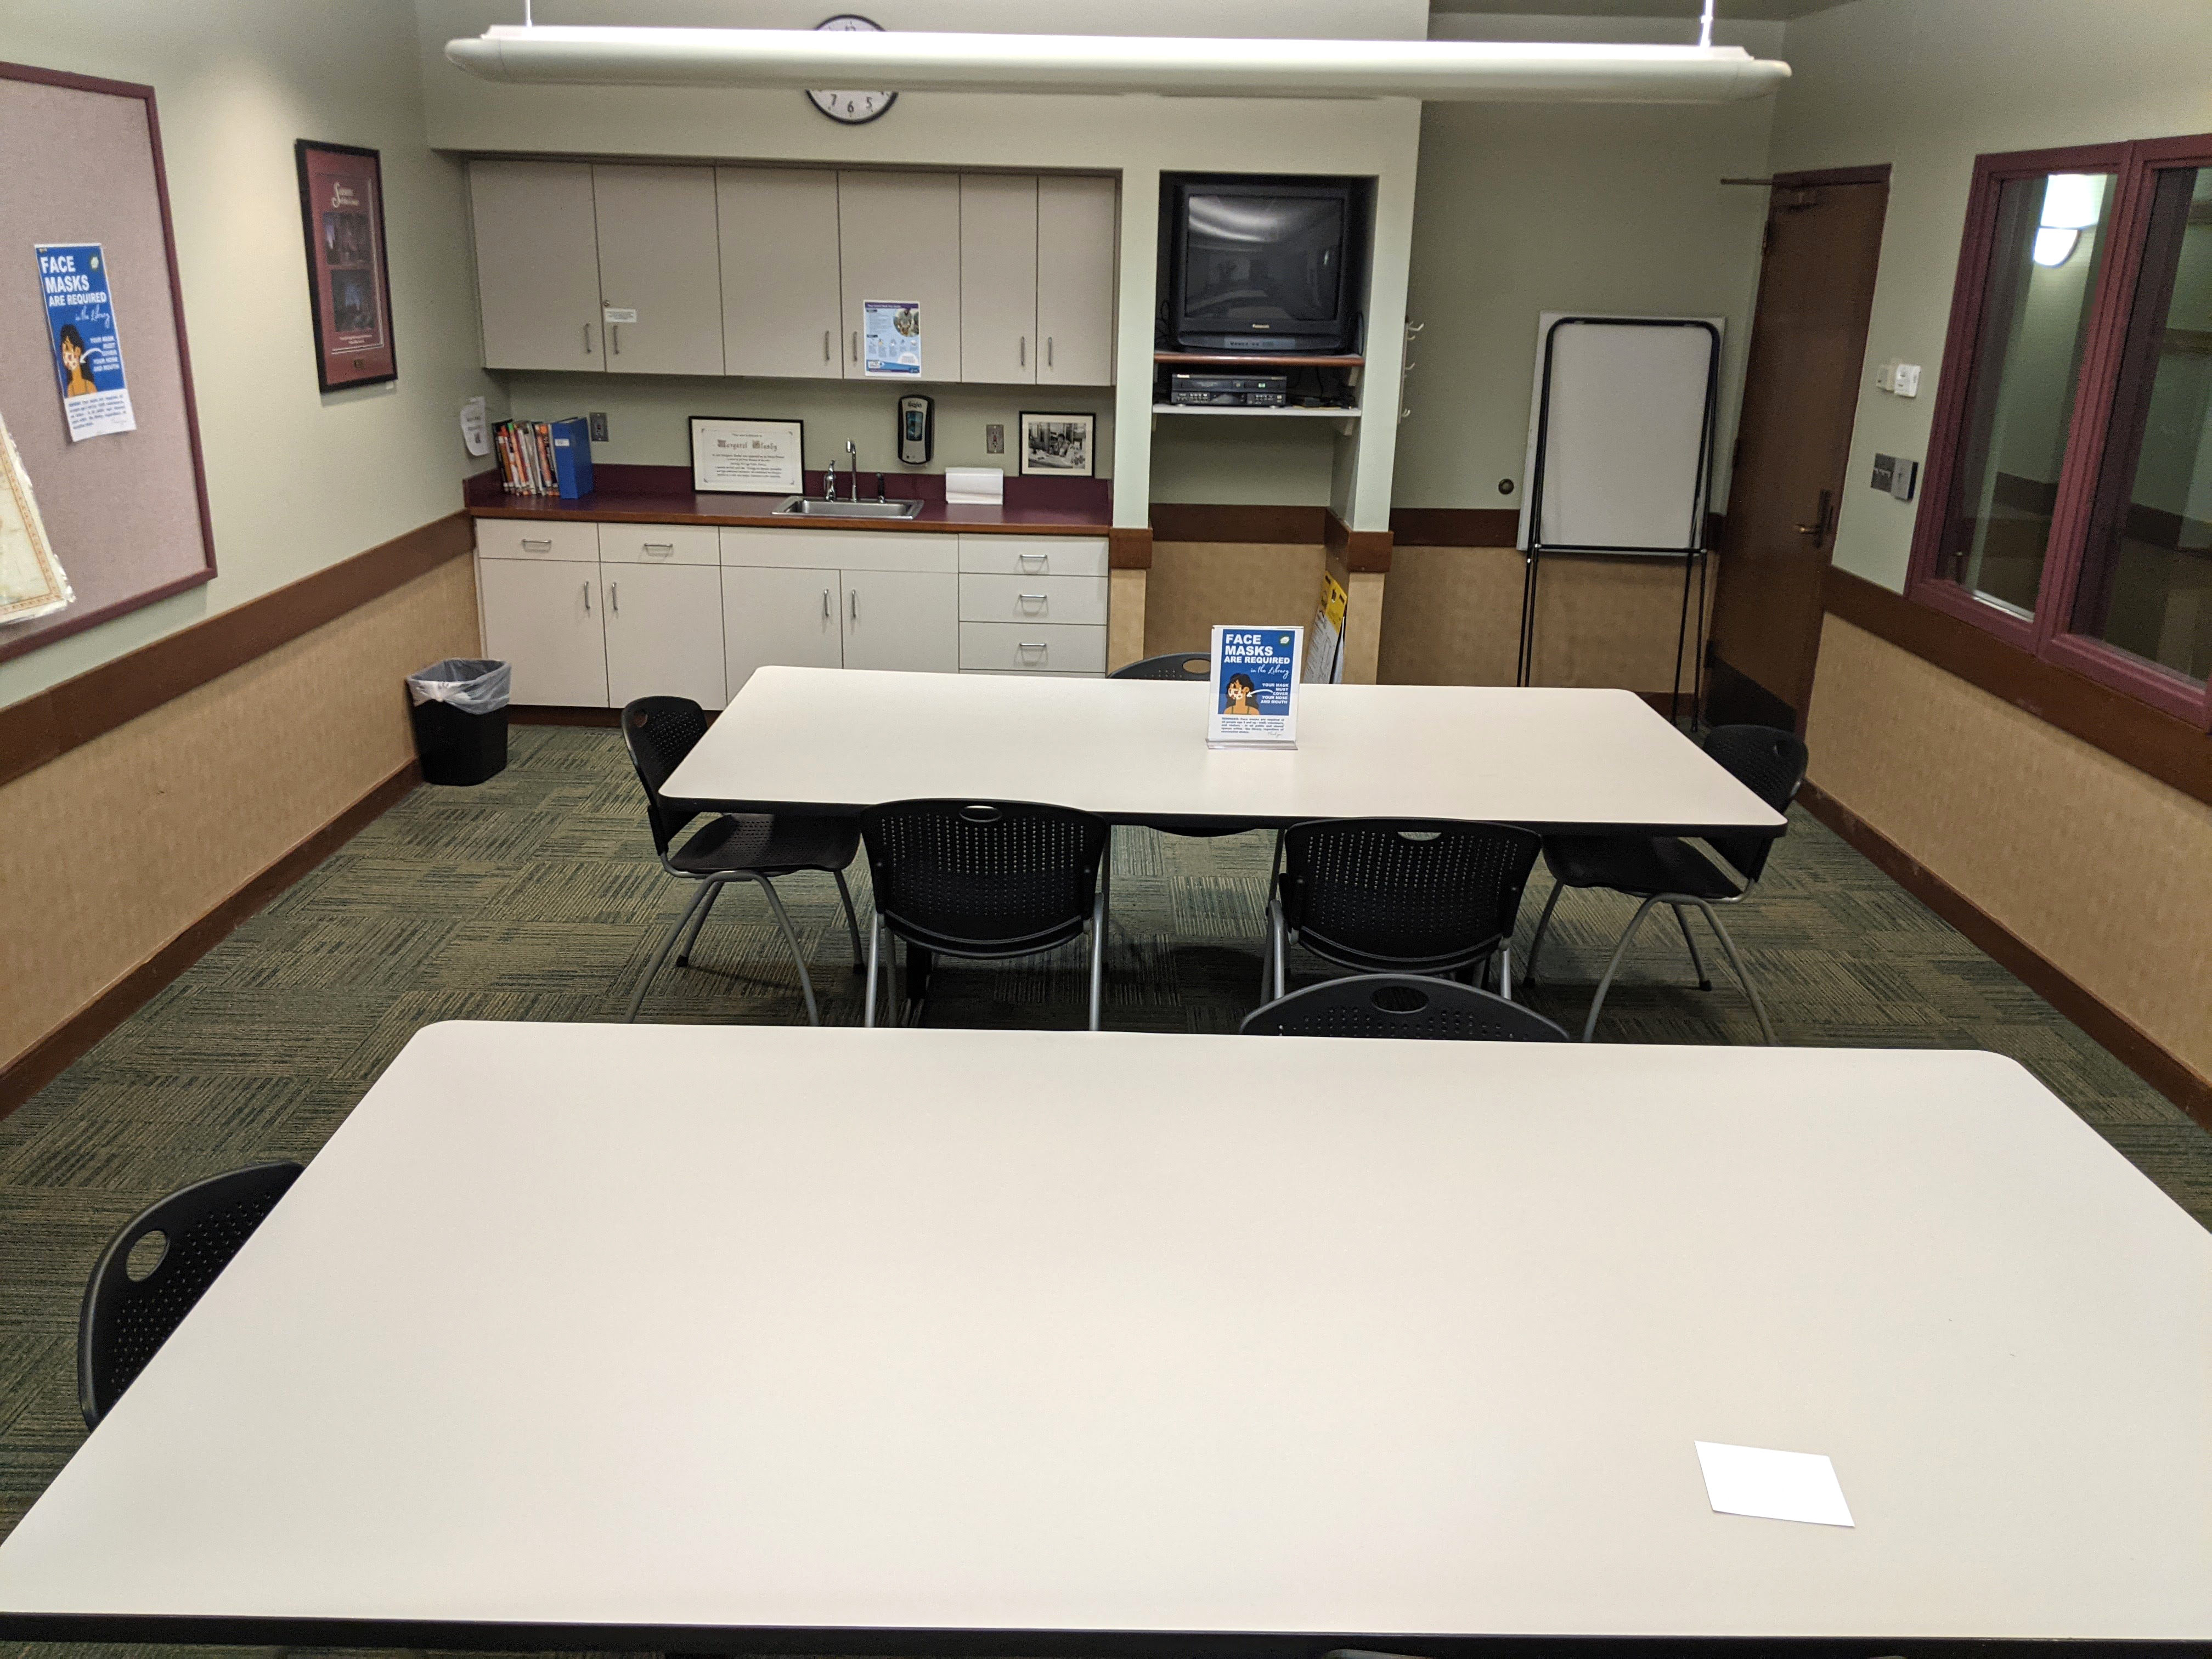
[[[215,1276],[299,1179],[299,1164],[254,1164],[210,1175],[133,1217],[100,1252],[77,1316],[77,1405],[84,1427],[104,1418],[146,1369]],[[161,1234],[161,1256],[139,1279],[131,1252]]]

